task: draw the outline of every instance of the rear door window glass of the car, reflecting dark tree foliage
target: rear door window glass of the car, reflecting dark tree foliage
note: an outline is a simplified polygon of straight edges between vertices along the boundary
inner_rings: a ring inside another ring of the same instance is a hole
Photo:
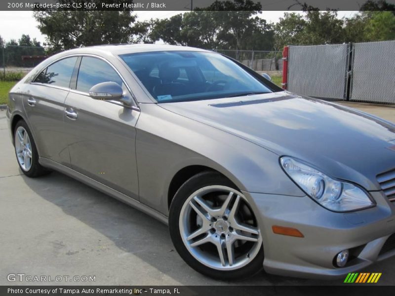
[[[53,63],[42,71],[34,82],[69,87],[77,57],[66,58]]]

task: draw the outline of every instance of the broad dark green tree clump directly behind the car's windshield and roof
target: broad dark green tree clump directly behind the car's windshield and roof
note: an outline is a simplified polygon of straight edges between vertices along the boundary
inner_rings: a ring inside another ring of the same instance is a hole
[[[225,6],[228,7],[228,6]],[[237,6],[234,6],[235,8]],[[151,41],[207,49],[272,50],[274,32],[258,11],[196,10],[152,20]]]

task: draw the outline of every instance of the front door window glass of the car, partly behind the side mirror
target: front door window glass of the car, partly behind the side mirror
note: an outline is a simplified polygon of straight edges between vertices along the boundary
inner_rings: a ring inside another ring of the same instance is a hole
[[[82,57],[77,78],[78,91],[87,93],[93,85],[108,81],[122,86],[122,79],[108,63],[97,58]]]

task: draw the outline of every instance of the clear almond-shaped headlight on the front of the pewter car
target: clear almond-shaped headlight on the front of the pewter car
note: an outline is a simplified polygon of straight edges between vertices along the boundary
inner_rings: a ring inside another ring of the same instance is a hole
[[[365,191],[356,185],[334,180],[288,156],[281,157],[280,163],[307,195],[328,210],[348,212],[374,205]]]

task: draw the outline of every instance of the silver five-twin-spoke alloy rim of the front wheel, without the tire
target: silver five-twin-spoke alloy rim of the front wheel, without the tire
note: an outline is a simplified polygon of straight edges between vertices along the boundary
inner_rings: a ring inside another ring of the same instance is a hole
[[[210,268],[241,268],[262,246],[257,220],[247,200],[227,186],[206,186],[189,196],[181,209],[179,225],[188,251]]]

